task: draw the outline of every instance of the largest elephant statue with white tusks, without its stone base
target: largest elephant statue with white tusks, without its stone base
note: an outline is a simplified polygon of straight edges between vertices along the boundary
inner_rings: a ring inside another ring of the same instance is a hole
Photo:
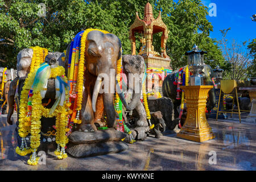
[[[65,71],[68,70],[69,44],[65,57]],[[117,60],[122,56],[121,41],[114,34],[104,34],[101,31],[93,30],[86,36],[85,43],[85,67],[84,72],[84,92],[82,94],[81,124],[76,130],[93,132],[97,130],[95,123],[104,125],[102,115],[106,114],[106,125],[114,127],[115,109],[114,109],[114,88],[115,78],[110,78],[114,72],[117,75]],[[108,81],[107,81],[108,80]],[[106,85],[109,86],[106,86]],[[100,93],[100,89],[104,92]],[[119,93],[119,97],[122,96]],[[125,104],[127,106],[127,104]]]

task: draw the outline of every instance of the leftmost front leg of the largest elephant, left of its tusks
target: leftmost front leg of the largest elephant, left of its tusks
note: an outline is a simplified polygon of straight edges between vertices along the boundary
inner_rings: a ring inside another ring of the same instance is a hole
[[[86,92],[87,91],[87,92]],[[92,109],[92,101],[90,95],[88,94],[88,90],[84,90],[82,94],[82,108],[81,108],[81,120],[82,123],[78,126],[79,131],[85,132],[93,132],[96,131],[97,128],[94,125],[94,113]]]

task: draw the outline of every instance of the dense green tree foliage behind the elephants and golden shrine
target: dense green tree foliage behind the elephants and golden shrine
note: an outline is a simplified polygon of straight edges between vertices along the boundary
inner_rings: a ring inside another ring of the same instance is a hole
[[[46,16],[39,16],[39,3],[45,3]],[[200,0],[0,0],[0,64],[15,67],[20,49],[30,46],[64,51],[73,36],[86,28],[100,28],[121,39],[123,53],[131,53],[129,28],[136,12],[143,19],[144,6],[150,2],[156,18],[162,12],[170,30],[167,54],[172,68],[187,64],[184,56],[193,44],[208,51],[205,63],[224,65],[217,41],[209,38],[213,31],[207,20],[208,8]],[[139,36],[139,35],[137,35]],[[160,52],[160,34],[154,36],[154,47]],[[137,50],[139,50],[137,41]],[[209,61],[214,60],[214,61]]]

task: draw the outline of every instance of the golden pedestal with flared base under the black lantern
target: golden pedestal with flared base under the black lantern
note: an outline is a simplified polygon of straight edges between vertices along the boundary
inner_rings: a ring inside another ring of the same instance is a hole
[[[180,86],[187,100],[187,118],[177,137],[204,142],[215,138],[205,116],[208,92],[212,85]]]

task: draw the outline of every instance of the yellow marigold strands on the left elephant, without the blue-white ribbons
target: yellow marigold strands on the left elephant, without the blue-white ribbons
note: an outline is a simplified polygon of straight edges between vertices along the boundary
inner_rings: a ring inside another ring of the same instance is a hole
[[[61,146],[60,154],[57,155],[57,158],[64,159],[67,158],[67,154],[65,154],[65,144],[68,142],[68,138],[65,135],[66,126],[68,122],[68,110],[70,104],[67,103],[69,98],[68,90],[65,90],[65,99],[63,106],[57,106],[55,112],[51,115],[49,114],[49,109],[44,108],[42,105],[42,97],[40,91],[33,92],[32,96],[32,113],[31,117],[27,117],[27,102],[28,102],[28,93],[29,90],[34,82],[34,78],[36,75],[36,71],[40,64],[44,61],[45,56],[47,55],[47,49],[40,48],[40,47],[33,47],[33,57],[31,63],[31,69],[26,78],[23,86],[23,90],[20,96],[20,111],[19,111],[19,136],[22,137],[22,145],[16,148],[16,153],[19,155],[27,155],[33,152],[28,159],[28,164],[36,165],[38,164],[39,158],[36,157],[36,150],[40,146],[40,129],[41,129],[41,122],[40,118],[44,117],[56,117],[56,143]],[[52,68],[51,76],[56,77],[61,76],[64,78],[64,81],[67,82],[67,78],[64,76],[65,69],[63,67],[56,67]],[[30,146],[31,148],[27,147],[26,140],[24,137],[31,133],[30,137]],[[25,147],[26,146],[26,147]]]

